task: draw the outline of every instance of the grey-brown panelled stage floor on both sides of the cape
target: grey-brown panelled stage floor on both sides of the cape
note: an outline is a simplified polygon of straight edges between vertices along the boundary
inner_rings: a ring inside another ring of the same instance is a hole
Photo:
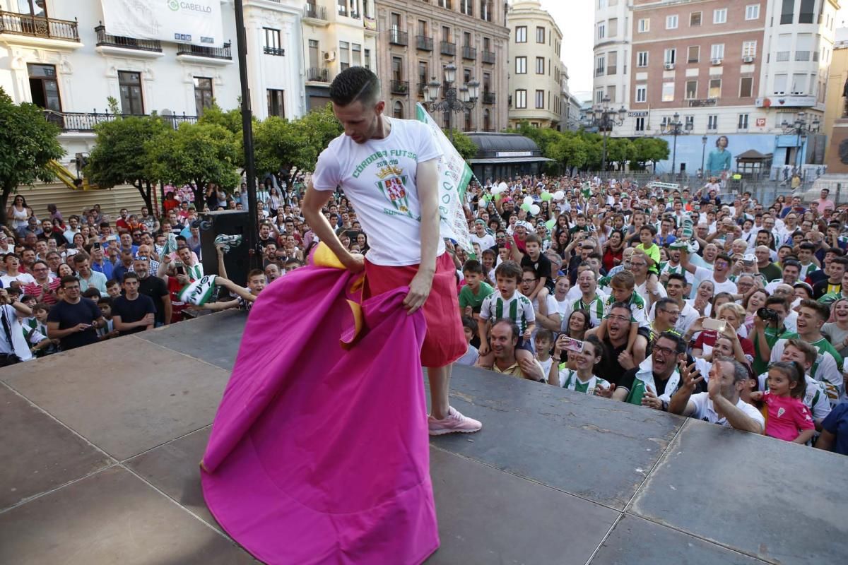
[[[198,461],[244,314],[0,369],[0,563],[248,563]],[[427,563],[848,562],[848,457],[455,368]],[[390,564],[387,564],[390,565]]]

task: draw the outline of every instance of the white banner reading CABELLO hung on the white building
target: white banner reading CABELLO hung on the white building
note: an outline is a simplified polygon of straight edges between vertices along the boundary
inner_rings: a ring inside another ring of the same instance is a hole
[[[110,36],[224,46],[220,0],[101,0]]]

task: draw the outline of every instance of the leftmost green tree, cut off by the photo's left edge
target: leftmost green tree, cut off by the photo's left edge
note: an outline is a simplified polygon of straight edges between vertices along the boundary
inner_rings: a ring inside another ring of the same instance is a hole
[[[47,163],[64,155],[59,127],[29,102],[15,104],[0,87],[0,223],[6,223],[8,196],[21,185],[49,182]]]

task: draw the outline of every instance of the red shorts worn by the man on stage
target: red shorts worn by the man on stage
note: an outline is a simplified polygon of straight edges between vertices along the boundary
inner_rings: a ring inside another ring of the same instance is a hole
[[[365,288],[363,300],[383,292],[409,285],[418,272],[418,265],[391,267],[375,265],[365,259]],[[465,355],[468,350],[466,333],[460,319],[460,301],[456,293],[456,269],[448,253],[436,258],[436,274],[427,302],[421,308],[427,321],[427,335],[421,346],[423,367],[444,367]]]

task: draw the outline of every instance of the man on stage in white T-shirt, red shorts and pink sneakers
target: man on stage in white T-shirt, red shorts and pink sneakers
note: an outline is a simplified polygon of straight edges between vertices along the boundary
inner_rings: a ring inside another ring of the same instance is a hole
[[[454,264],[439,233],[442,152],[427,125],[383,114],[380,82],[369,69],[343,70],[332,81],[330,98],[344,134],[318,158],[304,197],[304,218],[345,267],[365,270],[364,298],[410,287],[404,307],[410,314],[422,308],[427,321],[421,364],[430,379],[430,435],[476,432],[483,424],[449,406],[451,368],[467,344]],[[367,258],[345,249],[321,213],[337,186],[368,235]]]

